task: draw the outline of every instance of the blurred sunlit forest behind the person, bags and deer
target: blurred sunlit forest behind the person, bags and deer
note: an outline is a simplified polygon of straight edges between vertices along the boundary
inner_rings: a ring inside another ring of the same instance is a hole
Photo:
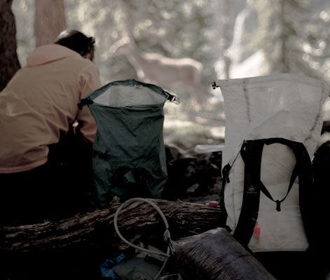
[[[14,0],[11,8],[25,66],[36,46],[35,1]],[[64,12],[68,29],[95,36],[103,84],[138,79],[128,57],[111,48],[125,36],[144,52],[202,64],[202,106],[186,85],[166,89],[181,104],[165,104],[165,144],[191,148],[224,141],[224,102],[211,86],[218,78],[289,72],[330,83],[329,0],[64,0]],[[330,120],[329,101],[324,120]]]

